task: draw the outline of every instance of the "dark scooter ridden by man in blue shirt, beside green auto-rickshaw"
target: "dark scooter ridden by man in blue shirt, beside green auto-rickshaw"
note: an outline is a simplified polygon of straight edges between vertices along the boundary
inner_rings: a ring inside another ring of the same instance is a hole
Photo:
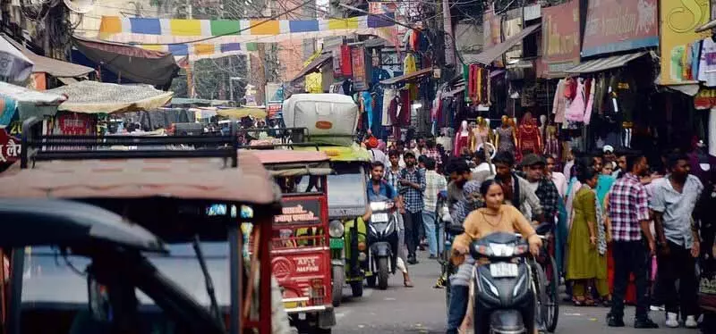
[[[366,272],[369,287],[388,288],[388,274],[396,273],[397,266],[397,210],[390,200],[371,202],[371,219],[368,221],[368,248],[370,272]]]

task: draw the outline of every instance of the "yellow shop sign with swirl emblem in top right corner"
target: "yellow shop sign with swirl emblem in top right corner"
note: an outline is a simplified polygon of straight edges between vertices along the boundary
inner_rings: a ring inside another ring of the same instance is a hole
[[[695,33],[711,16],[709,0],[661,0],[661,85],[697,83],[690,62],[696,41],[711,31]]]

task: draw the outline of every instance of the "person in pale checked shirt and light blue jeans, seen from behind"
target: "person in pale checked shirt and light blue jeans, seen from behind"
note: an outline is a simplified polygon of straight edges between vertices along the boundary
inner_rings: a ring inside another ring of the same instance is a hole
[[[438,258],[438,237],[435,234],[438,196],[441,191],[447,190],[447,180],[435,171],[436,164],[432,158],[428,158],[425,162],[425,193],[423,194],[425,208],[422,209],[422,224],[425,226],[425,234],[428,238],[430,259]]]

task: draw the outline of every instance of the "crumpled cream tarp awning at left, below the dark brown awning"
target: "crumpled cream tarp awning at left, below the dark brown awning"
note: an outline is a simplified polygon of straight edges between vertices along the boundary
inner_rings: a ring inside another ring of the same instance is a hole
[[[47,93],[67,96],[58,110],[73,113],[128,113],[157,109],[171,101],[173,92],[149,85],[117,85],[84,80]]]

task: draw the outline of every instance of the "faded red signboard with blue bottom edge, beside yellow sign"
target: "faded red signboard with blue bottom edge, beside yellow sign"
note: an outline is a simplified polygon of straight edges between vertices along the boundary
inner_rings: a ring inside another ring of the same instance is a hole
[[[698,0],[686,2],[693,1]],[[589,0],[582,56],[659,46],[657,2],[658,0]],[[669,3],[669,7],[684,7],[683,2],[661,1],[662,4]],[[662,6],[661,13],[663,12]],[[691,14],[686,11],[678,15]]]

